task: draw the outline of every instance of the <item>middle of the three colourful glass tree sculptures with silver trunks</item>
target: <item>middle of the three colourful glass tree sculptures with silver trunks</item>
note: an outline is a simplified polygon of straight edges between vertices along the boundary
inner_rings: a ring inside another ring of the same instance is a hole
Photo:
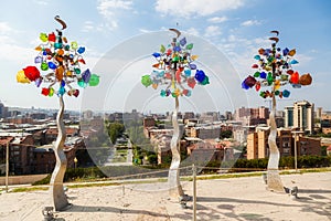
[[[166,88],[161,90],[160,95],[162,97],[173,97],[175,99],[175,109],[172,113],[172,126],[173,136],[171,139],[171,152],[172,161],[169,170],[169,185],[170,192],[183,197],[183,190],[179,180],[179,166],[181,162],[180,149],[179,149],[179,124],[178,124],[178,110],[179,110],[179,97],[191,96],[191,90],[196,84],[209,84],[209,77],[202,70],[197,70],[194,61],[197,55],[191,54],[193,43],[186,43],[186,39],[183,38],[178,42],[181,32],[177,29],[170,29],[177,33],[177,38],[173,38],[172,42],[164,46],[160,46],[160,52],[154,52],[152,56],[157,60],[157,63],[152,65],[153,71],[151,74],[143,75],[141,83],[148,87],[152,86],[154,90],[159,85],[166,85]]]

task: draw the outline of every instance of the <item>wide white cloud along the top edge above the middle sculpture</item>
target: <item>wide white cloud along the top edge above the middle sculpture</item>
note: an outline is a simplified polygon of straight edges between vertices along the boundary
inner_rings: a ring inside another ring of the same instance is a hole
[[[184,6],[184,7],[183,7]],[[244,0],[158,0],[156,10],[175,17],[210,15],[218,11],[234,10],[244,6]]]

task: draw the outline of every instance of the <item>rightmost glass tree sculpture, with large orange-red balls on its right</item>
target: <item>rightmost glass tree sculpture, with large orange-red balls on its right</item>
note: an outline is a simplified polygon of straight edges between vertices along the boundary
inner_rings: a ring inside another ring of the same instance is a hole
[[[301,86],[310,85],[312,78],[310,74],[299,75],[297,71],[292,70],[292,65],[299,62],[293,59],[296,50],[289,50],[277,48],[278,31],[271,31],[276,36],[269,38],[273,41],[270,49],[259,49],[258,54],[254,56],[257,60],[256,64],[253,64],[252,69],[256,70],[254,75],[248,75],[242,83],[242,87],[245,90],[255,87],[263,98],[270,97],[273,101],[273,107],[270,110],[270,134],[268,137],[269,145],[269,161],[267,183],[268,189],[273,191],[284,192],[284,186],[281,183],[278,165],[279,165],[279,150],[276,144],[277,126],[275,122],[276,115],[276,96],[279,98],[289,97],[290,91],[280,90],[281,86],[290,84],[293,88],[300,88]],[[270,91],[261,91],[261,87],[270,87]]]

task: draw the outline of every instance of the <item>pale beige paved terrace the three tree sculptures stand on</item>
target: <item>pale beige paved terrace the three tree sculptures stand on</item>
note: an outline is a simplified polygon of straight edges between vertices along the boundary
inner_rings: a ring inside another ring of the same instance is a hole
[[[299,188],[298,199],[266,190],[261,177],[197,180],[196,220],[331,220],[331,172],[281,176]],[[192,196],[192,182],[182,182]],[[169,198],[166,182],[68,188],[72,207],[55,220],[183,221],[192,220],[192,202],[182,209]],[[0,220],[43,220],[47,191],[1,193]]]

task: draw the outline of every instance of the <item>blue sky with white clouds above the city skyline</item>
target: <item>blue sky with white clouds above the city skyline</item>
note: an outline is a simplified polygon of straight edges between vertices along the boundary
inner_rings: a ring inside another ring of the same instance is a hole
[[[36,55],[34,48],[40,43],[39,34],[61,28],[54,20],[55,15],[60,15],[67,24],[64,31],[66,38],[86,46],[86,66],[100,75],[100,84],[107,84],[100,85],[98,90],[85,88],[79,98],[66,97],[68,109],[97,107],[129,110],[139,104],[138,110],[170,109],[168,105],[172,105],[173,101],[159,98],[159,91],[143,88],[139,77],[151,71],[149,50],[151,54],[153,49],[158,51],[158,43],[169,43],[164,41],[171,41],[173,34],[167,34],[167,30],[177,28],[195,41],[193,51],[200,55],[200,65],[210,70],[214,77],[211,90],[206,87],[207,95],[196,88],[192,101],[181,102],[183,110],[194,107],[195,110],[210,108],[224,112],[241,106],[268,106],[255,91],[243,91],[241,81],[254,73],[250,66],[257,50],[270,46],[268,38],[271,30],[280,32],[280,48],[297,50],[299,64],[295,69],[301,74],[310,73],[313,77],[311,86],[290,90],[290,98],[278,102],[278,109],[295,101],[307,99],[317,107],[331,110],[330,1],[21,0],[4,1],[1,8],[0,101],[7,106],[57,108],[55,97],[42,96],[40,88],[32,84],[18,84],[15,74],[22,67],[33,64]],[[156,32],[160,35],[149,40]],[[218,59],[210,59],[210,54],[203,52],[206,48],[199,48],[199,43],[218,53]],[[103,63],[103,57],[113,57],[113,61],[106,59],[107,62]],[[116,64],[125,66],[115,69]],[[222,71],[222,66],[226,69]],[[149,94],[150,97],[140,96],[140,93]],[[201,97],[206,96],[212,101],[209,104],[213,105],[203,104]],[[98,104],[89,101],[98,101]]]

